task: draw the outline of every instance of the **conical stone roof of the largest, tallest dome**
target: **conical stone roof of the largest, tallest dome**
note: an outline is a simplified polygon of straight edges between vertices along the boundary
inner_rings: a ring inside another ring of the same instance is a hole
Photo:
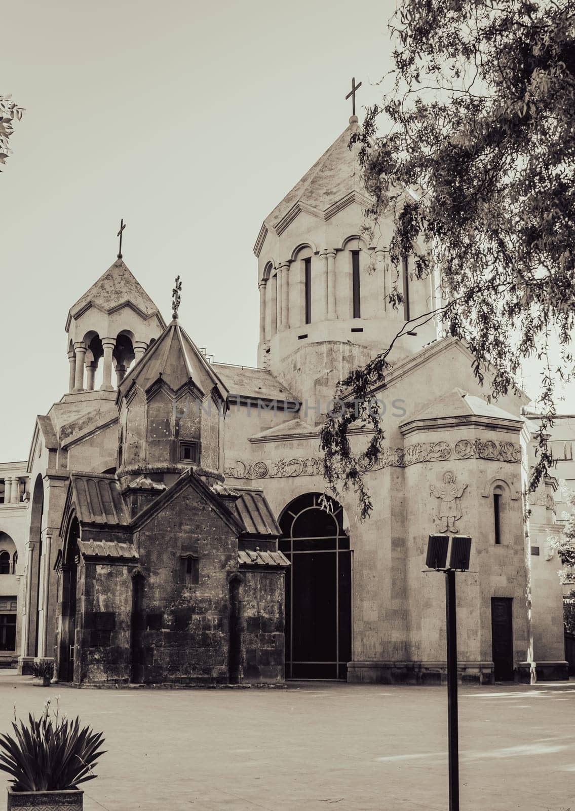
[[[336,209],[339,210],[337,204],[353,195],[354,192],[362,196],[366,195],[358,164],[360,146],[354,144],[353,148],[349,148],[351,136],[359,131],[358,119],[356,116],[352,116],[349,126],[320,159],[315,161],[311,169],[308,169],[303,178],[285,195],[281,203],[277,204],[276,208],[268,214],[264,220],[264,227],[267,226],[276,233],[281,233],[293,219],[293,217],[290,219],[290,212],[294,212],[293,216],[297,215],[298,211],[294,210],[296,204],[300,204],[304,211],[310,210],[310,213],[316,212],[322,219],[328,219],[331,213],[330,208],[336,206]],[[325,216],[326,212],[327,216]],[[256,242],[256,252],[257,245]]]

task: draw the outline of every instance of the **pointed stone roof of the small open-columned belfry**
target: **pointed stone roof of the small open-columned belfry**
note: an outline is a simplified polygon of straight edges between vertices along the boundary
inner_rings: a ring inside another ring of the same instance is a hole
[[[136,307],[145,316],[157,315],[161,324],[164,324],[157,306],[123,260],[118,259],[70,308],[70,315],[78,315],[89,304],[110,312],[126,303]]]

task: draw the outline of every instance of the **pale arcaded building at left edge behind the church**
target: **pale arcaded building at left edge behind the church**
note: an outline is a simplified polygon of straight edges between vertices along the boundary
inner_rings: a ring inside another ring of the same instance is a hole
[[[0,463],[0,667],[20,650],[28,502],[26,462]]]

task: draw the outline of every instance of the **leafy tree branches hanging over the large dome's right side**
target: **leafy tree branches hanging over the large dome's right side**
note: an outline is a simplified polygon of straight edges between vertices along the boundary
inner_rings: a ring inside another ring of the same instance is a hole
[[[543,362],[531,487],[551,466],[556,384],[573,373],[574,22],[570,0],[402,0],[388,92],[354,136],[373,200],[367,229],[392,217],[393,266],[415,253],[413,276],[440,279],[436,317],[444,334],[467,342],[482,383],[489,368],[488,396],[513,391],[521,363]],[[388,354],[342,380],[338,394],[358,399],[384,384]],[[361,459],[348,437],[356,419],[374,429]],[[364,517],[363,469],[383,439],[365,405],[324,423],[326,477],[358,492]]]

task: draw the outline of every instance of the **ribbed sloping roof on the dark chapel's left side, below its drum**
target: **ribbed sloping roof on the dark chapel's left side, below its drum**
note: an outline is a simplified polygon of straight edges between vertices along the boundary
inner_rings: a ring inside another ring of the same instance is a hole
[[[81,523],[127,526],[130,517],[118,480],[105,474],[71,474],[76,513]]]

